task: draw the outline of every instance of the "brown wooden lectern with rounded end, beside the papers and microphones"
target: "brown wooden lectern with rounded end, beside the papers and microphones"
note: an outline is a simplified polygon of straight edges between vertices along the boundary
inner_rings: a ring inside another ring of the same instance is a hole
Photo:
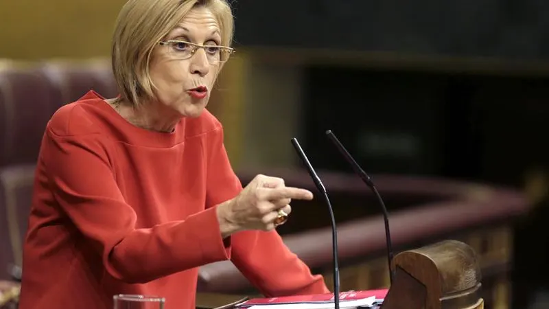
[[[382,309],[482,309],[480,266],[464,242],[445,240],[393,259],[395,277]],[[198,309],[232,308],[239,295],[198,293]]]

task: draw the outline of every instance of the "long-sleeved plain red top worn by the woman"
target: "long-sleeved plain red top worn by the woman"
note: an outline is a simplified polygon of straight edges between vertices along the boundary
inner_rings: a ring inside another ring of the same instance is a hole
[[[207,111],[158,133],[87,93],[43,137],[19,308],[112,308],[123,293],[194,309],[198,266],[227,259],[266,295],[328,293],[275,231],[222,239],[215,205],[241,190]]]

